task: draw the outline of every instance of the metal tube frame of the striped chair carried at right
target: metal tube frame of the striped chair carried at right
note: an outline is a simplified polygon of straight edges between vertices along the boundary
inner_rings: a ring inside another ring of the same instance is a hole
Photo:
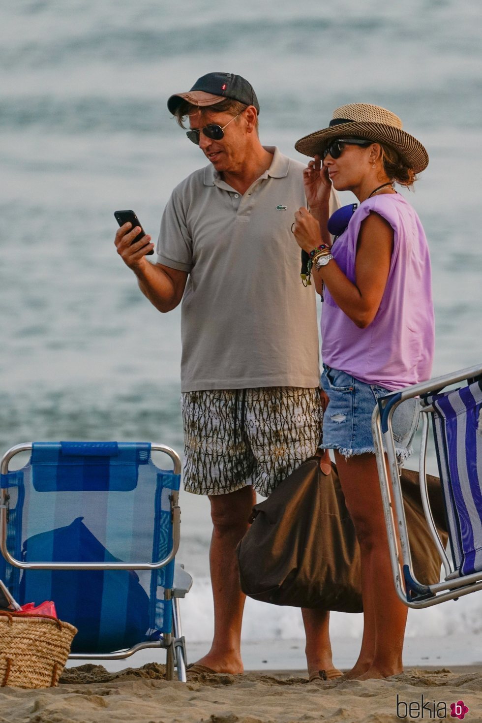
[[[426,451],[430,416],[434,413],[434,407],[423,401],[425,395],[439,393],[450,385],[459,382],[470,384],[481,378],[482,364],[461,369],[458,372],[435,377],[427,382],[411,385],[403,390],[384,395],[379,398],[373,411],[371,431],[374,439],[380,490],[382,492],[393,579],[397,595],[408,607],[431,607],[431,605],[445,600],[457,599],[470,592],[482,590],[482,572],[460,576],[454,562],[449,560],[436,531],[426,482]],[[421,500],[429,531],[439,552],[441,566],[444,569],[444,579],[433,585],[423,585],[417,580],[413,572],[402,489],[400,487],[400,467],[397,462],[395,441],[392,433],[392,416],[397,406],[407,399],[418,397],[420,397],[418,406],[422,421],[421,448],[418,460]]]

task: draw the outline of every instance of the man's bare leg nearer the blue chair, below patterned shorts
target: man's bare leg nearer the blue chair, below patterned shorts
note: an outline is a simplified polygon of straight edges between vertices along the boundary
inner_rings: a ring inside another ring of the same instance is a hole
[[[216,672],[242,673],[241,623],[246,596],[239,586],[236,547],[248,529],[256,492],[252,487],[243,487],[227,495],[210,495],[209,499],[214,638],[210,651],[197,662]]]

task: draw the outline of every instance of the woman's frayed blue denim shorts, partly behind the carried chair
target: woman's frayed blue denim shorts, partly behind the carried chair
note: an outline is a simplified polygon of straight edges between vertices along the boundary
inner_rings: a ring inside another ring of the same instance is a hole
[[[360,382],[326,364],[323,364],[321,385],[330,397],[323,417],[322,448],[339,450],[344,457],[375,453],[371,414],[378,398],[392,390]],[[392,432],[399,461],[407,458],[412,451],[410,443],[417,424],[416,399],[399,404],[392,416]]]

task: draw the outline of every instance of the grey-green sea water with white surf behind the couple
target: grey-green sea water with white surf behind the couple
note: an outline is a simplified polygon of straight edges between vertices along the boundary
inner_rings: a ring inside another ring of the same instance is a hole
[[[431,245],[434,374],[481,361],[478,0],[21,0],[2,4],[2,29],[1,450],[99,438],[182,451],[179,310],[160,315],[140,294],[113,211],[133,208],[156,235],[173,186],[204,165],[165,101],[215,69],[252,82],[262,141],[294,158],[343,103],[401,116],[431,158],[410,200]],[[208,506],[181,505],[186,636],[207,641]],[[481,609],[478,593],[410,612],[408,635],[480,633]],[[332,632],[355,649],[361,616],[333,615]],[[246,643],[296,637],[297,611],[248,602]]]

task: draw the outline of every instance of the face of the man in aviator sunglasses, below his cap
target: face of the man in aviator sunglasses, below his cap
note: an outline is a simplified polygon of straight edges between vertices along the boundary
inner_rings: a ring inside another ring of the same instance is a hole
[[[199,148],[215,167],[216,171],[236,171],[243,163],[246,152],[246,127],[243,115],[233,120],[229,113],[212,113],[198,111],[189,116],[191,130],[199,130]],[[230,123],[230,121],[233,121]],[[229,123],[229,125],[227,125]],[[202,128],[216,124],[224,129],[221,140],[212,140],[205,136]]]

